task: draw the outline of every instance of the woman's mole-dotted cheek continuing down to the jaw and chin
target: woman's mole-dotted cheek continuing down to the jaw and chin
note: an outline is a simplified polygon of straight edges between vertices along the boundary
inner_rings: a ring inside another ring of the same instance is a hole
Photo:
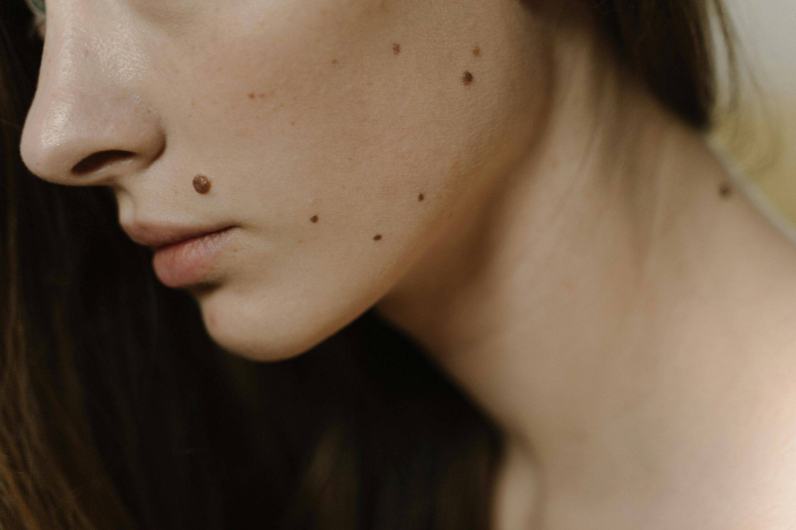
[[[225,349],[269,360],[373,306],[486,185],[520,114],[474,21],[447,21],[443,41],[379,2],[275,3],[269,21],[221,21],[236,31],[187,46],[181,72],[201,76],[178,76],[162,103],[175,170],[211,176],[213,208],[251,238],[200,297],[205,324]]]

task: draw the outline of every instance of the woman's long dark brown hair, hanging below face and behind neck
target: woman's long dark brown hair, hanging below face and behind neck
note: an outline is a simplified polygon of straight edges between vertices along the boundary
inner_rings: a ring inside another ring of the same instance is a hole
[[[592,7],[650,90],[708,127],[720,2]],[[28,21],[2,2],[0,526],[488,528],[500,437],[408,337],[369,311],[294,360],[228,356],[107,191],[29,175]]]

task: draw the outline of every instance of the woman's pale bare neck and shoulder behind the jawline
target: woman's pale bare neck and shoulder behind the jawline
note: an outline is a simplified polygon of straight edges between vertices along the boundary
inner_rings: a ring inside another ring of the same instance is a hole
[[[517,492],[544,528],[669,528],[771,495],[796,252],[720,193],[699,134],[612,64],[564,59],[521,155],[377,310],[501,427],[499,527],[532,516]]]

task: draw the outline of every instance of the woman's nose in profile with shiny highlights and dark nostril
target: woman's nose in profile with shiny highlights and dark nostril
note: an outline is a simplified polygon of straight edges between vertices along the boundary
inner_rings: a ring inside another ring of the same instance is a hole
[[[103,33],[96,18],[81,28],[75,11],[48,17],[22,131],[25,166],[65,185],[110,185],[146,170],[165,149],[166,135],[142,94],[146,57],[135,39],[118,29]]]

